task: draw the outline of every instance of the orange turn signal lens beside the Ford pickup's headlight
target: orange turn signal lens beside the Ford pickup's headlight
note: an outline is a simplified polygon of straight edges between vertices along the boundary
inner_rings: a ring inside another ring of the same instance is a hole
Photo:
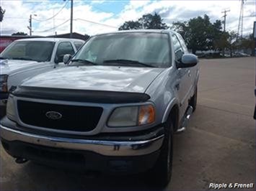
[[[138,125],[151,124],[155,120],[155,111],[154,107],[151,105],[140,106],[138,112]]]

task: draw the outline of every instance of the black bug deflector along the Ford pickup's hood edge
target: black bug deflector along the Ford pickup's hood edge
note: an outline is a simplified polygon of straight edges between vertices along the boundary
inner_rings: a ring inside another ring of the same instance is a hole
[[[40,88],[19,86],[13,95],[24,98],[38,98],[58,101],[79,101],[89,103],[139,103],[148,101],[146,93],[115,92],[102,90],[71,90],[61,88]]]

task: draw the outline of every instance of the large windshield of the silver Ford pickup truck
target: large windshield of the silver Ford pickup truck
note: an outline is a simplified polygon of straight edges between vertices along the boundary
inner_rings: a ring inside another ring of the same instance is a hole
[[[89,39],[73,60],[87,60],[95,65],[169,67],[169,37],[147,32],[103,34]]]

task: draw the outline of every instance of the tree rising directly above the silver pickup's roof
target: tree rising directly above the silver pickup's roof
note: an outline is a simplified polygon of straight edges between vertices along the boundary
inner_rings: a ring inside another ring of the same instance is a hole
[[[163,19],[159,14],[144,14],[137,21],[125,22],[119,30],[130,30],[130,29],[168,29],[167,24],[163,23]]]

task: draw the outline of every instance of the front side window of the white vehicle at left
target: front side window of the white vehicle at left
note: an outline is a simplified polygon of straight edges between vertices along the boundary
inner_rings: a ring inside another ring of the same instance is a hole
[[[71,42],[61,42],[58,44],[55,62],[62,62],[64,55],[74,55],[74,49],[71,45]]]

